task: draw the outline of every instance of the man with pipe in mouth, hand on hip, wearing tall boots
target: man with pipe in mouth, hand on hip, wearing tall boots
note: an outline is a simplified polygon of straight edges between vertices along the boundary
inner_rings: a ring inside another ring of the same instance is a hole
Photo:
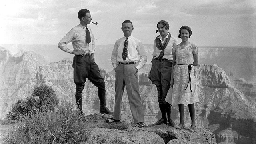
[[[82,91],[85,86],[86,78],[88,78],[94,86],[98,87],[100,113],[113,114],[113,112],[106,107],[104,78],[100,75],[99,67],[94,61],[95,39],[92,30],[87,26],[92,20],[90,11],[87,9],[79,10],[78,18],[80,24],[72,28],[58,44],[61,50],[75,55],[73,68],[74,83],[76,84],[76,106],[82,115]],[[67,47],[67,44],[70,42],[72,42],[74,50],[70,50]]]

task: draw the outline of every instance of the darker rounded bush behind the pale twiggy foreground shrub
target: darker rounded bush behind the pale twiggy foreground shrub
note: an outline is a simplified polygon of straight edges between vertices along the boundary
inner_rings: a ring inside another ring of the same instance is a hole
[[[25,100],[18,100],[12,105],[12,110],[7,117],[10,120],[18,120],[25,114],[32,114],[39,111],[51,111],[58,105],[59,100],[54,90],[46,84],[34,87],[32,96]]]

